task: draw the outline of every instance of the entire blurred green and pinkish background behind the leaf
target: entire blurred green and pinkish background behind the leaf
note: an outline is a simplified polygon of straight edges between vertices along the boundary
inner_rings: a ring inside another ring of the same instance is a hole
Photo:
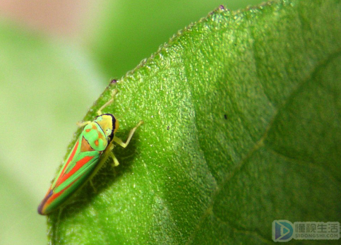
[[[46,244],[37,205],[88,107],[178,30],[260,0],[0,2],[0,244]]]

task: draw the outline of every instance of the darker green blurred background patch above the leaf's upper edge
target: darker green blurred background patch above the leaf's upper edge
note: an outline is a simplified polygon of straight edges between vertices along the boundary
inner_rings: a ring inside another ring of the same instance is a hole
[[[209,11],[226,4],[237,9],[261,0],[227,1],[107,1],[99,18],[90,23],[88,47],[107,76],[121,78],[142,59],[157,51],[172,35]],[[97,16],[96,16],[97,17]]]

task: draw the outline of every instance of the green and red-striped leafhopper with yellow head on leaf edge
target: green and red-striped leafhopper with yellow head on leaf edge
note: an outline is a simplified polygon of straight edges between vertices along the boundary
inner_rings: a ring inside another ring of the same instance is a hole
[[[131,137],[133,137],[133,133],[138,126],[143,124],[143,121],[140,121],[131,129],[126,143],[115,136],[117,129],[119,129],[119,121],[112,114],[103,114],[102,109],[114,101],[117,92],[118,90],[113,90],[112,99],[100,107],[97,111],[98,116],[95,117],[94,121],[78,123],[78,126],[85,127],[52,182],[42,203],[38,206],[40,215],[47,215],[59,208],[88,179],[91,180],[92,176],[102,167],[109,156],[112,157],[114,166],[119,165],[119,161],[112,153],[113,143],[115,142],[126,148]]]

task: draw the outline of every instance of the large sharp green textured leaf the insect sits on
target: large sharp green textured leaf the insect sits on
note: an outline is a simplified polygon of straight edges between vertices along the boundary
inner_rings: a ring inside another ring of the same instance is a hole
[[[272,244],[273,220],[340,221],[341,1],[218,8],[117,85],[90,184],[49,215],[52,244]],[[80,131],[78,130],[78,133]]]

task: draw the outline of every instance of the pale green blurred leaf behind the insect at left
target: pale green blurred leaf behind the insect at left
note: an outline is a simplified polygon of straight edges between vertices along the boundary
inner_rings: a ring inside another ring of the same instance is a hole
[[[0,244],[42,244],[35,206],[104,78],[77,47],[4,21],[0,30]]]

